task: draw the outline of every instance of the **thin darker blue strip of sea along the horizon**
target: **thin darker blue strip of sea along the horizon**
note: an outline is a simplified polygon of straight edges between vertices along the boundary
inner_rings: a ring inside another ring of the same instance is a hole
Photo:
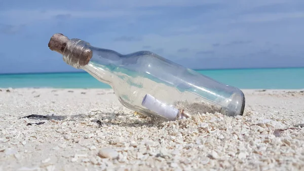
[[[265,70],[265,69],[302,69],[304,66],[296,67],[238,67],[238,68],[219,68],[219,69],[192,69],[194,71],[212,71],[212,70]],[[0,73],[0,75],[39,75],[39,74],[77,74],[77,73],[87,73],[85,71],[75,71],[75,72],[41,72],[41,73]]]

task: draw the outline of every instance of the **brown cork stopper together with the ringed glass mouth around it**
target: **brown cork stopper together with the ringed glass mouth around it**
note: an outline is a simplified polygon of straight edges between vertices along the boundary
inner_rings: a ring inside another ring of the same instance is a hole
[[[55,33],[48,44],[52,51],[56,51],[63,55],[63,60],[75,67],[80,68],[90,62],[93,56],[93,52],[88,48],[89,43],[81,41],[82,43],[75,43],[73,40],[69,40],[61,33]]]

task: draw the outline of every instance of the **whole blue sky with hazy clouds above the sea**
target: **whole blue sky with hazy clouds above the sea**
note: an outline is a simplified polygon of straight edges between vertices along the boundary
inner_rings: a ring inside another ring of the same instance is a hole
[[[0,73],[78,71],[48,48],[63,33],[192,69],[304,66],[304,1],[0,1]]]

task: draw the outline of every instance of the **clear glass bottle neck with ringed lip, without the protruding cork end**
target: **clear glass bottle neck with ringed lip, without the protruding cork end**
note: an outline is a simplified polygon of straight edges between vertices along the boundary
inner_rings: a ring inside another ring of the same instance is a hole
[[[113,66],[120,60],[120,54],[107,49],[96,48],[89,43],[71,39],[66,43],[63,60],[76,69],[83,69],[97,80],[112,84]]]

